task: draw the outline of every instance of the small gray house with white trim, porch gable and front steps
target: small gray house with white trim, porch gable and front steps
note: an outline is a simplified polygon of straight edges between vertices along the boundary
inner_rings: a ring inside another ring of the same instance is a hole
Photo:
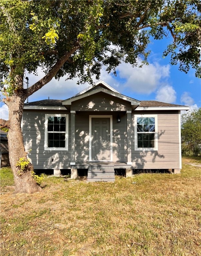
[[[114,181],[114,169],[181,169],[180,110],[138,101],[98,81],[67,100],[25,103],[23,136],[35,169],[88,170],[88,181]]]

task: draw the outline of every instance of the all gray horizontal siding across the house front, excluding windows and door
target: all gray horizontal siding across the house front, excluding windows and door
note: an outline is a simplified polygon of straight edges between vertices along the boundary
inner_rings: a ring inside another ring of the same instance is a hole
[[[84,102],[82,102],[84,104]],[[85,102],[86,104],[86,102]],[[128,106],[127,106],[128,107]],[[89,161],[89,115],[112,115],[113,162],[127,162],[126,111],[76,111],[75,162]],[[45,114],[68,114],[68,150],[44,150]],[[121,122],[117,123],[117,115]],[[135,151],[134,115],[158,115],[158,151]],[[65,110],[24,110],[23,136],[25,150],[29,152],[35,169],[70,169],[71,165],[71,113]],[[133,169],[179,169],[179,116],[178,111],[133,111],[131,113],[131,150]]]

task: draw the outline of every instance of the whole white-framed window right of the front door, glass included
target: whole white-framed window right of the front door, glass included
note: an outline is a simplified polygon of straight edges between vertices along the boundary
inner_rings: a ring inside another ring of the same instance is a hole
[[[135,150],[158,150],[157,115],[135,115]]]

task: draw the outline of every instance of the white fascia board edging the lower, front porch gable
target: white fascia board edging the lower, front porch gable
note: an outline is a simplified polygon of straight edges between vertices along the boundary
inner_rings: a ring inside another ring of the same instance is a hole
[[[120,99],[122,99],[122,100],[129,101],[129,102],[131,102],[131,105],[136,105],[136,104],[139,105],[139,104],[140,104],[140,101],[134,100],[134,99],[132,99],[132,98],[130,98],[130,97],[127,97],[127,96],[124,96],[124,95],[122,95],[122,94],[120,94],[120,93],[116,93],[116,92],[109,91],[109,90],[104,89],[104,88],[97,88],[97,89],[95,89],[95,90],[93,90],[93,91],[89,91],[88,93],[85,93],[84,95],[83,95],[83,94],[77,95],[77,96],[75,96],[75,97],[73,97],[73,98],[71,98],[71,99],[67,99],[67,100],[62,101],[62,104],[63,104],[63,105],[71,105],[71,103],[72,103],[73,101],[80,100],[80,99],[82,99],[82,98],[91,96],[91,95],[96,94],[96,93],[98,93],[98,92],[104,92],[104,93],[107,93],[107,94],[109,94],[109,95],[111,95],[111,96],[120,98]]]

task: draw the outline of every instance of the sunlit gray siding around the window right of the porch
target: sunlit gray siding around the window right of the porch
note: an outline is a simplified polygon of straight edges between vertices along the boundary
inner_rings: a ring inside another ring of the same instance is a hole
[[[134,114],[157,114],[158,150],[135,151]],[[133,169],[179,169],[179,116],[178,111],[134,111],[131,116],[132,168]]]

